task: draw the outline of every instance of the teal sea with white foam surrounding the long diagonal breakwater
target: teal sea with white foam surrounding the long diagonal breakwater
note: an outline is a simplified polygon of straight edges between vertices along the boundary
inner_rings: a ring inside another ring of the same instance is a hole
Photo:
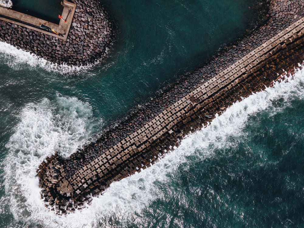
[[[250,95],[139,174],[67,216],[36,168],[64,157],[250,24],[252,1],[105,1],[119,28],[95,68],[0,43],[0,227],[303,227],[304,70]]]

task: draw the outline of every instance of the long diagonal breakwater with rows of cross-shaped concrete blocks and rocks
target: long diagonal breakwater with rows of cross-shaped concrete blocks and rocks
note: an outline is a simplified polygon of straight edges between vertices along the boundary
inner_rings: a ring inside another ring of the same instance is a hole
[[[68,159],[37,170],[42,197],[57,213],[81,208],[113,181],[147,168],[233,102],[269,86],[304,56],[302,0],[272,0],[269,20],[229,51],[168,87],[142,110]]]

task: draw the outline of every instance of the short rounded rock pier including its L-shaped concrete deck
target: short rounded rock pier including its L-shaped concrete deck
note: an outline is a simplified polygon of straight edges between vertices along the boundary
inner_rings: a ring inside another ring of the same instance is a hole
[[[59,25],[0,7],[0,41],[56,64],[104,60],[113,41],[113,24],[104,7],[96,0],[69,0],[64,5],[62,16],[67,22],[60,20]],[[43,31],[40,24],[63,35]]]

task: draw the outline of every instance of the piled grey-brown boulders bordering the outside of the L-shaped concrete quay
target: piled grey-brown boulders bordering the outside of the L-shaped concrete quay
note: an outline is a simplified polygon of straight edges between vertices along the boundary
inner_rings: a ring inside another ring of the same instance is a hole
[[[67,40],[0,20],[0,41],[53,63],[84,65],[102,60],[113,41],[113,24],[99,1],[72,0],[76,10]]]

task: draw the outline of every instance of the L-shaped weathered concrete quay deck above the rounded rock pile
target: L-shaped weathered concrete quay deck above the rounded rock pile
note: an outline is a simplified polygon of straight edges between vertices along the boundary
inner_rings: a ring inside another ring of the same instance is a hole
[[[23,26],[28,29],[33,29],[40,33],[45,33],[50,36],[57,37],[59,39],[67,40],[68,33],[70,31],[72,19],[74,17],[76,5],[71,2],[63,1],[64,9],[61,13],[66,22],[60,20],[59,24],[54,24],[33,16],[26,15],[24,13],[20,13],[14,11],[12,9],[0,7],[0,20],[11,22],[16,25]],[[69,10],[71,10],[70,13]],[[60,35],[56,35],[54,33],[46,32],[42,29],[39,29],[40,25],[48,26],[51,29],[55,29]],[[62,34],[62,35],[61,35]]]

